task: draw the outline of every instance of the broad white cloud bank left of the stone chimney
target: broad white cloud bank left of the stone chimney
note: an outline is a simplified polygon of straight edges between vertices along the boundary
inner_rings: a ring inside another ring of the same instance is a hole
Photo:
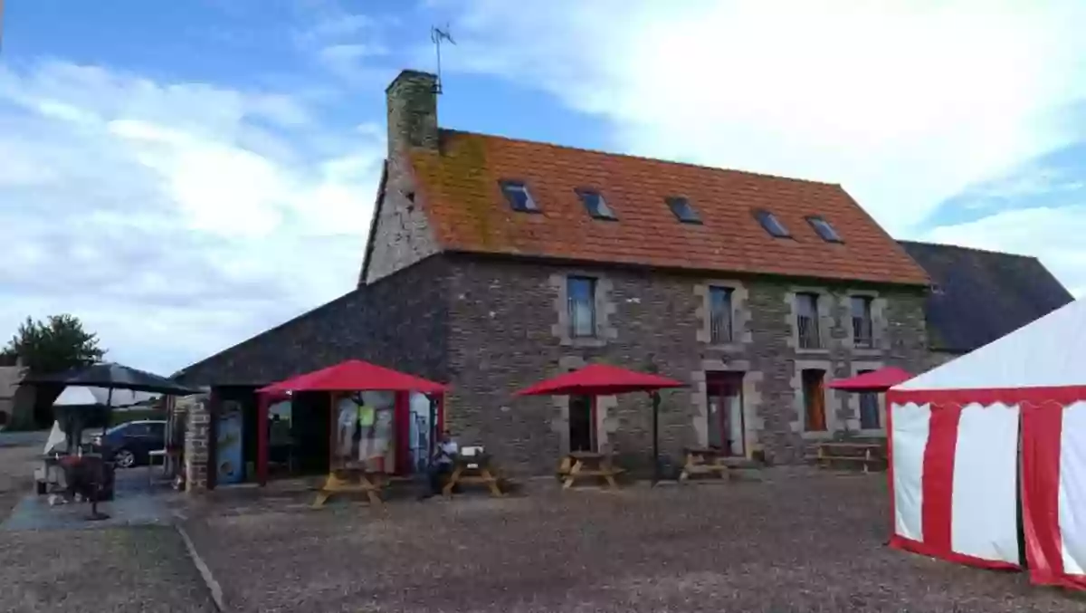
[[[383,135],[315,116],[277,92],[0,70],[0,331],[72,312],[111,358],[169,373],[351,289]]]

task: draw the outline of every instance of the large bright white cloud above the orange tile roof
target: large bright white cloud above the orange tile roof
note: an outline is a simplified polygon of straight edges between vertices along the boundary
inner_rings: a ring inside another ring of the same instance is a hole
[[[460,14],[453,70],[602,115],[620,149],[841,183],[901,235],[1082,136],[1081,2],[434,4]]]

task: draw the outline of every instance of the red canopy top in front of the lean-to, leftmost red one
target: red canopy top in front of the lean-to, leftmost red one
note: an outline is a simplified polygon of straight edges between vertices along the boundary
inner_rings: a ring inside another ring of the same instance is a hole
[[[384,368],[362,360],[348,360],[334,366],[299,375],[257,391],[277,395],[288,391],[418,391],[440,393],[449,386]]]

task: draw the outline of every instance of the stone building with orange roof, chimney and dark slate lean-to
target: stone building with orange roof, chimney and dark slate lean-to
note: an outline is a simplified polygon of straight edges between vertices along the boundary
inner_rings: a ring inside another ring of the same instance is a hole
[[[251,399],[370,360],[451,384],[446,423],[521,473],[582,447],[646,462],[643,395],[513,399],[593,361],[690,383],[664,399],[672,458],[715,445],[793,462],[808,441],[883,431],[825,383],[922,371],[930,282],[839,186],[442,129],[434,86],[405,71],[387,90],[357,289],[180,380]]]

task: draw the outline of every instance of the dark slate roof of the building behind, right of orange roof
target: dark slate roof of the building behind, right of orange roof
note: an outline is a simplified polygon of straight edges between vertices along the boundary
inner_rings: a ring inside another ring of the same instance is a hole
[[[1036,258],[899,241],[932,278],[932,349],[968,352],[1074,300]]]

